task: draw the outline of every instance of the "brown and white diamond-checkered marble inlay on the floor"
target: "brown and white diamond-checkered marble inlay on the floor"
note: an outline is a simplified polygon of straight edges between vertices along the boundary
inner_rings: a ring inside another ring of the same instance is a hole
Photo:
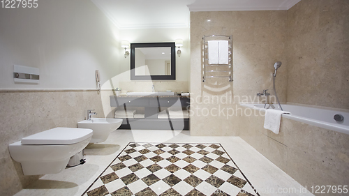
[[[82,196],[258,195],[221,144],[131,142]]]

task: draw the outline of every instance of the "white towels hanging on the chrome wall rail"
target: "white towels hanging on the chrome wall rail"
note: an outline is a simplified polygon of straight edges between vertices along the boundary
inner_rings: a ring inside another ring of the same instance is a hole
[[[211,40],[207,42],[209,47],[209,64],[217,65],[223,64],[227,65],[229,61],[228,54],[228,41],[227,40]]]

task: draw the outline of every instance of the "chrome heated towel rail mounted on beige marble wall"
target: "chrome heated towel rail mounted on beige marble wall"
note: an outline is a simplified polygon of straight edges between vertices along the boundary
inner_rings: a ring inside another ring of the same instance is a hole
[[[209,64],[208,41],[209,40],[228,40],[228,64]],[[207,78],[227,77],[232,82],[232,36],[203,36],[202,37],[202,82]],[[220,75],[221,73],[221,75]],[[228,75],[227,75],[228,73]],[[213,75],[211,75],[213,74]]]

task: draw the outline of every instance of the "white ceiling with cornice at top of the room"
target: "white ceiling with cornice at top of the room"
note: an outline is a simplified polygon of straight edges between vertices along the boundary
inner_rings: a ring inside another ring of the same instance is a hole
[[[187,28],[190,12],[288,10],[300,0],[91,0],[119,29]]]

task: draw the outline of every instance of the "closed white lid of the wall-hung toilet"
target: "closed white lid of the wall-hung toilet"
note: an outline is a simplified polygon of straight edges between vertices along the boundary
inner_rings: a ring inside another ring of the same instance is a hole
[[[45,130],[22,139],[22,144],[64,145],[82,142],[93,135],[93,130],[88,128],[63,128],[57,127]]]

